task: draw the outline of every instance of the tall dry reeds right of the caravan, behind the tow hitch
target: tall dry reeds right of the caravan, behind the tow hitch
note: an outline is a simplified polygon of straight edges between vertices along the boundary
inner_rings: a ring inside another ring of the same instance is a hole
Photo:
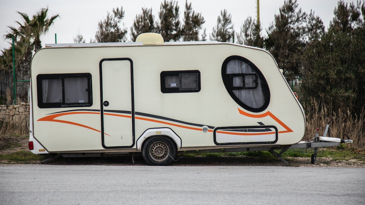
[[[304,136],[305,140],[314,137],[316,128],[320,128],[319,136],[323,135],[328,121],[330,123],[330,137],[347,139],[343,134],[354,140],[353,144],[347,144],[348,148],[364,149],[365,148],[365,110],[362,109],[360,114],[351,113],[347,108],[334,109],[330,102],[322,100],[319,103],[312,99],[310,105],[303,105],[306,113],[307,131]]]

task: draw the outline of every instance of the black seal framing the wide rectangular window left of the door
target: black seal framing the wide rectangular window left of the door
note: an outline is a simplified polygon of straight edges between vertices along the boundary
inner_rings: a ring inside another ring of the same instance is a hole
[[[65,103],[65,78],[87,78],[88,79],[88,102]],[[62,80],[62,102],[43,103],[42,80]],[[91,73],[58,73],[37,75],[37,104],[39,108],[70,108],[70,107],[91,107],[92,102],[92,76]]]

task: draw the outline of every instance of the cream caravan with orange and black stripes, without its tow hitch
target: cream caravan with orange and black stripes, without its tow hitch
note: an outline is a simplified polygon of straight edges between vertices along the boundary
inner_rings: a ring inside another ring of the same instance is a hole
[[[150,165],[183,151],[292,145],[306,129],[267,51],[153,33],[37,51],[30,115],[34,154],[142,152]]]

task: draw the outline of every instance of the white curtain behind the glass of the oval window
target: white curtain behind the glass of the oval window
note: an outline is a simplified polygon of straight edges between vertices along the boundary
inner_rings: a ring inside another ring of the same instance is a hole
[[[247,63],[240,60],[231,60],[227,64],[226,74],[238,74],[238,73],[256,73],[255,70],[249,66]],[[233,77],[233,86],[240,87],[251,87],[252,78],[254,76],[248,75],[245,76],[245,85],[243,85],[242,77]],[[261,108],[265,103],[264,93],[262,92],[261,80],[258,76],[257,78],[258,86],[255,89],[242,89],[242,90],[233,90],[235,96],[241,100],[245,105],[251,108]]]

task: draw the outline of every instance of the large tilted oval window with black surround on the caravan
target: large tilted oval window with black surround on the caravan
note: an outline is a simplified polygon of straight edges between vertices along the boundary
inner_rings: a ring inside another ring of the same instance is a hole
[[[222,65],[222,79],[227,92],[242,108],[262,112],[268,107],[268,83],[251,61],[241,56],[226,58]]]

